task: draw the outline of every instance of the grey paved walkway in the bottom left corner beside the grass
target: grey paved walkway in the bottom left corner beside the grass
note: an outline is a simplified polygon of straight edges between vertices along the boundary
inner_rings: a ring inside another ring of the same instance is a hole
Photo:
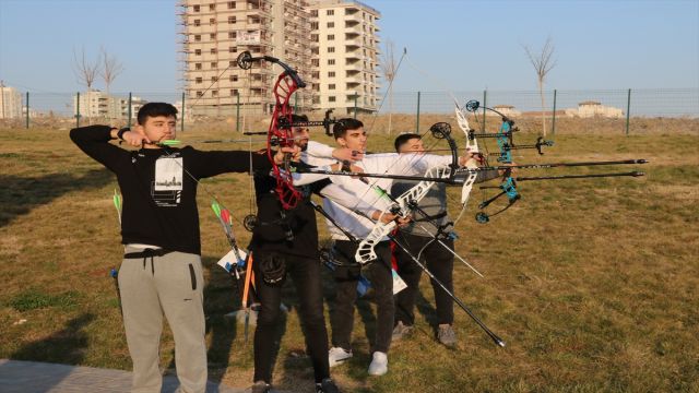
[[[163,392],[175,392],[177,377],[163,378]],[[0,359],[0,392],[2,393],[107,393],[129,392],[131,372],[93,367],[76,367]],[[233,389],[209,382],[206,392],[242,393],[250,390]]]

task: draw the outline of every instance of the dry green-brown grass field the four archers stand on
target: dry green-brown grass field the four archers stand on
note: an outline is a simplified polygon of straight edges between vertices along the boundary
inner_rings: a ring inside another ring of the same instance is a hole
[[[445,120],[425,116],[422,126],[433,119]],[[408,129],[414,120],[393,121]],[[523,151],[516,160],[647,158],[650,164],[635,168],[596,169],[639,169],[647,172],[643,178],[522,182],[521,201],[487,225],[473,219],[481,198],[474,188],[458,226],[457,251],[485,278],[457,262],[454,290],[507,347],[494,345],[458,308],[459,346],[440,346],[430,327],[431,288],[423,278],[416,332],[391,348],[384,377],[366,374],[365,330],[374,330],[374,306],[359,302],[355,356],[332,369],[340,386],[347,392],[698,392],[699,128],[696,121],[648,119],[633,130],[624,136],[618,122],[605,132],[583,120],[561,120],[547,155]],[[246,150],[247,144],[194,142],[235,136],[199,129],[179,139],[200,148]],[[519,140],[534,136],[524,132]],[[376,134],[370,145],[390,151],[391,139]],[[122,253],[111,204],[115,177],[72,145],[67,130],[0,130],[0,358],[130,369],[108,275]],[[247,243],[249,234],[239,222],[249,213],[248,178],[226,175],[204,186],[232,209],[236,234]],[[451,192],[457,201],[460,190]],[[199,195],[210,376],[247,386],[252,340],[246,343],[242,325],[223,317],[239,299],[232,279],[214,265],[227,243],[209,207],[211,198],[203,190]],[[451,210],[458,213],[455,204]],[[324,223],[319,227],[325,239]],[[332,302],[329,275],[325,289]],[[285,294],[292,312],[281,331],[274,382],[308,392],[312,370],[303,356],[293,287]],[[174,372],[173,349],[166,330],[162,354],[168,372]]]

